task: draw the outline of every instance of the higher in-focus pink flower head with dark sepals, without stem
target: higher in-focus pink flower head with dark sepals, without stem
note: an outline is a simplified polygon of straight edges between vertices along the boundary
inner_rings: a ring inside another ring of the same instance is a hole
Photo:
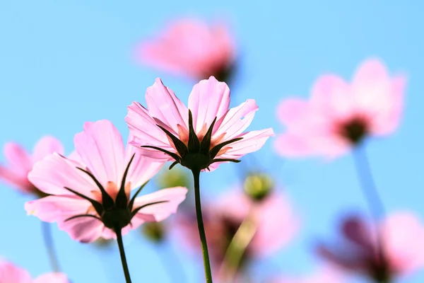
[[[148,109],[136,102],[128,108],[130,143],[145,156],[175,161],[172,166],[212,170],[221,162],[238,162],[273,135],[271,128],[244,132],[257,104],[249,99],[228,110],[230,89],[213,76],[194,86],[189,108],[160,79],[147,88],[146,103]]]

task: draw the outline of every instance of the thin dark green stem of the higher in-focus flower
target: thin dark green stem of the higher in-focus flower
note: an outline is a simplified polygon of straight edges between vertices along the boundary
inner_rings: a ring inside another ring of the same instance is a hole
[[[201,252],[204,258],[204,269],[206,283],[212,283],[211,262],[209,261],[208,244],[206,243],[205,227],[203,223],[203,216],[201,215],[201,202],[200,202],[200,170],[192,170],[194,178],[194,201],[196,203],[196,217],[197,228],[199,229],[199,236],[201,241]]]

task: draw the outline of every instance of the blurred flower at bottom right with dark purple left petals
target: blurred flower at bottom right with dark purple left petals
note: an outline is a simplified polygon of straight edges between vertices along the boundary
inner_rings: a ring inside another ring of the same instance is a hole
[[[360,217],[350,216],[341,224],[342,245],[320,244],[318,252],[346,270],[381,282],[424,267],[424,225],[415,214],[391,214],[378,226],[379,242],[376,233]]]

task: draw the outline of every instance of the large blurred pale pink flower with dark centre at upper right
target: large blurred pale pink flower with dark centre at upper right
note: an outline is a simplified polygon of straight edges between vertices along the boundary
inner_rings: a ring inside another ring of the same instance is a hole
[[[384,64],[368,59],[348,83],[321,76],[310,100],[291,98],[278,106],[286,132],[275,141],[283,156],[340,156],[371,135],[384,136],[399,125],[405,76],[390,76]]]

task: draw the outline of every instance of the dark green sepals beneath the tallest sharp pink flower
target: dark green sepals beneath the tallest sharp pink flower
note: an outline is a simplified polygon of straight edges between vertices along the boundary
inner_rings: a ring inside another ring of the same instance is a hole
[[[225,162],[225,161],[230,161],[235,163],[240,162],[240,160],[237,160],[237,159],[216,158],[219,151],[223,149],[224,146],[227,146],[228,144],[232,144],[235,141],[240,141],[243,138],[237,137],[235,139],[224,141],[221,144],[217,144],[216,146],[213,146],[213,148],[211,149],[212,130],[213,130],[213,126],[215,125],[215,122],[216,122],[216,117],[213,120],[211,126],[208,128],[208,131],[206,132],[204,137],[201,140],[199,140],[199,137],[197,137],[197,134],[194,131],[194,127],[193,127],[192,111],[189,110],[189,141],[187,145],[184,144],[183,141],[175,137],[175,135],[172,134],[170,131],[168,131],[167,129],[165,129],[164,127],[160,125],[157,125],[160,129],[163,130],[163,132],[165,132],[165,134],[167,134],[167,137],[169,137],[172,140],[172,143],[174,144],[178,154],[167,151],[165,149],[161,149],[158,146],[141,146],[141,147],[156,149],[174,158],[175,162],[171,164],[170,169],[172,169],[172,167],[174,167],[178,163],[180,163],[182,166],[189,168],[190,170],[200,171],[203,169],[209,170],[209,166],[211,166],[211,164],[216,162]]]

